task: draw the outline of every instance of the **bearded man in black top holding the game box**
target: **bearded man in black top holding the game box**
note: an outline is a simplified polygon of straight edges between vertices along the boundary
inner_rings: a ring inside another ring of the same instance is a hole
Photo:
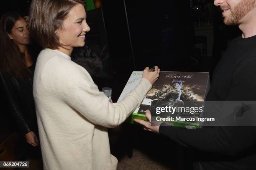
[[[256,0],[215,0],[223,10],[226,25],[238,25],[242,35],[235,38],[223,54],[212,77],[208,101],[256,100]],[[179,144],[199,152],[196,170],[255,170],[256,127],[215,126],[202,129],[182,129],[171,126],[151,126],[135,120],[144,129],[166,135]],[[246,124],[245,124],[246,125]]]

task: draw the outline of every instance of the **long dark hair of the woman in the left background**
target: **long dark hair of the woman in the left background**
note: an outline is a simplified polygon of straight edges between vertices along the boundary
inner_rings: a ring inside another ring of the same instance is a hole
[[[19,14],[8,12],[0,20],[0,70],[16,78],[28,79],[31,71],[20,57],[20,48],[9,38],[13,26],[22,18]]]

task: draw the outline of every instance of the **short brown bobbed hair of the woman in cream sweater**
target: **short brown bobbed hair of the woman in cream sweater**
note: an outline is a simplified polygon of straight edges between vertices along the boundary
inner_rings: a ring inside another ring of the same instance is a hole
[[[31,36],[44,48],[61,46],[56,30],[77,4],[85,6],[83,0],[33,0],[30,7],[29,28]]]

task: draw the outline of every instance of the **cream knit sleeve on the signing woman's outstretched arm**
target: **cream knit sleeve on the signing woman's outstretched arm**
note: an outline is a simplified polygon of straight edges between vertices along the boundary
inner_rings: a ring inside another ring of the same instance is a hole
[[[67,99],[67,104],[94,124],[116,127],[141,104],[150,88],[150,82],[147,79],[141,79],[140,84],[122,101],[111,104],[108,97],[93,84],[70,91],[71,95]]]

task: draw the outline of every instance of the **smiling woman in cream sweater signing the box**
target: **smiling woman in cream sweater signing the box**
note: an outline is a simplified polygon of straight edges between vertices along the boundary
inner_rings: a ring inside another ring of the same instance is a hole
[[[160,70],[143,71],[140,84],[111,104],[90,74],[71,61],[90,31],[83,0],[33,0],[31,36],[45,49],[36,63],[33,95],[44,170],[115,170],[107,127],[116,127],[141,104]],[[121,57],[121,56],[120,56]]]

